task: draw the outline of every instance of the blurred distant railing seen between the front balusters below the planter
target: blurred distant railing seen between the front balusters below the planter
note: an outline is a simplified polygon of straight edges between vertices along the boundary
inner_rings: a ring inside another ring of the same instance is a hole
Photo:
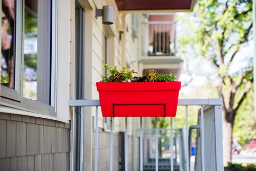
[[[138,132],[141,130],[136,130],[136,137]],[[156,144],[156,138],[158,139],[158,169],[159,170],[170,170],[170,156],[172,156],[171,148],[174,149],[173,160],[174,169],[183,168],[183,163],[185,159],[185,153],[183,149],[184,146],[184,129],[173,129],[173,142],[174,146],[170,145],[170,129],[158,129],[158,136],[155,137],[155,129],[142,129],[143,132],[143,146],[146,153],[143,154],[143,169],[144,170],[155,170],[156,161],[156,149],[153,148]],[[141,164],[141,165],[142,165]]]

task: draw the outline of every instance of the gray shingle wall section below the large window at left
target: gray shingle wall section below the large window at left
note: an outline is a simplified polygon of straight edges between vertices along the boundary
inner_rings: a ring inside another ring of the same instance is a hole
[[[0,113],[0,170],[69,170],[70,124]]]

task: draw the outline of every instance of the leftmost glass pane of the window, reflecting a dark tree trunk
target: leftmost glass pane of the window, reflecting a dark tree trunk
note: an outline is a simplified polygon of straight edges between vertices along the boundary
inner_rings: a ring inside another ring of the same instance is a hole
[[[14,89],[15,77],[15,3],[2,1],[1,84]]]

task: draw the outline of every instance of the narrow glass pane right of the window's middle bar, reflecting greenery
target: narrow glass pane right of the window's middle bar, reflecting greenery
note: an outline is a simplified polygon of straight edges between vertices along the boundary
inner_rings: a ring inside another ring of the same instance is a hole
[[[37,99],[37,0],[25,0],[23,96]]]

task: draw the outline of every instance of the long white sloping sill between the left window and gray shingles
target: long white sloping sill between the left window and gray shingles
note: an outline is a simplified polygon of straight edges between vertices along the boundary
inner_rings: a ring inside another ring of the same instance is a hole
[[[69,120],[59,119],[56,117],[41,115],[41,114],[37,114],[34,112],[28,112],[28,111],[24,111],[24,110],[14,109],[14,108],[10,108],[10,107],[3,106],[3,105],[0,105],[0,113],[26,115],[26,116],[33,116],[33,117],[38,117],[38,118],[45,118],[45,119],[51,119],[51,120],[56,120],[56,121],[60,121],[60,122],[70,123]]]

